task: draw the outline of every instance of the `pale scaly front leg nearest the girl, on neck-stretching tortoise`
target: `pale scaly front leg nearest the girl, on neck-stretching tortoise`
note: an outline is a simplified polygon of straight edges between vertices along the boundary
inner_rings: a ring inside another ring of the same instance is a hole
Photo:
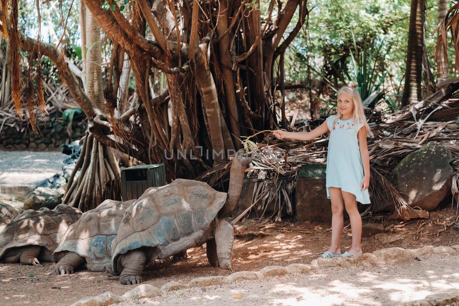
[[[230,270],[231,256],[233,255],[234,228],[228,221],[219,220],[214,236],[215,243],[217,244],[218,264],[220,267]]]

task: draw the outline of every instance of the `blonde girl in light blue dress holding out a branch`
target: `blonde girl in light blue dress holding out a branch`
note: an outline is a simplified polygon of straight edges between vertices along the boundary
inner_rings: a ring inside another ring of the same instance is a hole
[[[326,189],[331,200],[331,246],[319,258],[362,254],[362,219],[357,201],[370,204],[370,180],[367,137],[373,137],[364,114],[362,99],[355,83],[338,91],[337,114],[331,115],[311,132],[273,131],[278,139],[312,140],[330,131],[327,155]],[[351,221],[352,245],[341,254],[340,240],[343,229],[343,210]]]

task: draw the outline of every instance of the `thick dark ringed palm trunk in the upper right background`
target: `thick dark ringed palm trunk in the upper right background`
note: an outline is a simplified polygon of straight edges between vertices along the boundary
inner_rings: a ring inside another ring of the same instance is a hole
[[[424,17],[425,0],[411,0],[403,106],[421,100]]]

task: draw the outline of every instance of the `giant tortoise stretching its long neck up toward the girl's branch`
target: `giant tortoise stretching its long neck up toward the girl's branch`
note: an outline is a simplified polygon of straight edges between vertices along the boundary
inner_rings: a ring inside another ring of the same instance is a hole
[[[138,284],[145,262],[163,259],[207,242],[213,267],[231,269],[233,226],[224,220],[241,193],[246,165],[239,150],[231,165],[228,193],[195,180],[174,182],[145,191],[126,210],[112,242],[112,273],[121,284]]]

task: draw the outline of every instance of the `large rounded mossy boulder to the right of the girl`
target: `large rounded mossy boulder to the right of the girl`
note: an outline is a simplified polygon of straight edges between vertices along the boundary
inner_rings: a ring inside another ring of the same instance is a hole
[[[392,170],[390,179],[406,194],[409,206],[431,211],[451,193],[452,160],[449,150],[429,143],[403,158]]]

